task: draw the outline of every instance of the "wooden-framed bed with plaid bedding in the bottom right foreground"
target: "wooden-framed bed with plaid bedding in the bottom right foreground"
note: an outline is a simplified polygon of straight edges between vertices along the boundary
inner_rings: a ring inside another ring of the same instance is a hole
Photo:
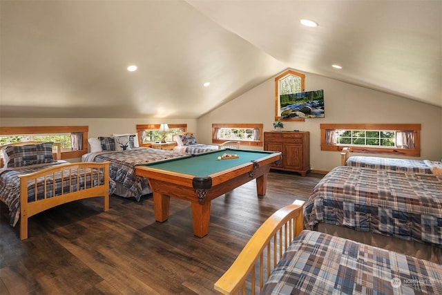
[[[215,283],[220,294],[442,294],[442,265],[302,230],[296,201],[273,213]]]

